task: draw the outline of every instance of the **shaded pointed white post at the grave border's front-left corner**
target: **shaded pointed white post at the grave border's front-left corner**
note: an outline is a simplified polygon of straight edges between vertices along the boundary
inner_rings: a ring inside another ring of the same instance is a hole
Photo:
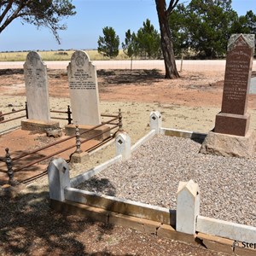
[[[51,160],[47,167],[49,179],[49,198],[65,201],[64,189],[70,188],[69,168],[61,158]]]

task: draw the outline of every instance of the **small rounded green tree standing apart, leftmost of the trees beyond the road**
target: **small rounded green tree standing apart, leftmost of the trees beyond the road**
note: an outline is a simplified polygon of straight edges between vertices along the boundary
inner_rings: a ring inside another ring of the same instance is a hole
[[[102,32],[104,37],[98,39],[98,52],[110,58],[116,57],[119,55],[119,36],[111,26],[103,27]]]

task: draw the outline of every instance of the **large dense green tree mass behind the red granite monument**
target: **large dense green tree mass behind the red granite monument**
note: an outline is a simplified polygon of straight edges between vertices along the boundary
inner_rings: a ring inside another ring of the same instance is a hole
[[[169,24],[176,54],[189,50],[209,59],[226,53],[232,33],[256,33],[253,11],[239,17],[231,0],[191,0],[186,7],[180,4]]]

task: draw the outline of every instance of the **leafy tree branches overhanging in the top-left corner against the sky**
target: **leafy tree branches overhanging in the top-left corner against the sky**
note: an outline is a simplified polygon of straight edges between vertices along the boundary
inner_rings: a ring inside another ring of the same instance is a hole
[[[0,1],[0,7],[0,33],[20,18],[24,23],[48,27],[59,43],[58,31],[67,29],[66,25],[60,24],[61,20],[76,14],[72,0]]]

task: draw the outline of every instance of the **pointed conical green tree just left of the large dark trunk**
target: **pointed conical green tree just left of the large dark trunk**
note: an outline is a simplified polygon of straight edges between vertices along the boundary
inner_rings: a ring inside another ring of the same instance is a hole
[[[135,52],[137,55],[148,58],[160,57],[160,34],[154,29],[150,20],[147,19],[143,22],[143,27],[137,31],[135,42]]]

